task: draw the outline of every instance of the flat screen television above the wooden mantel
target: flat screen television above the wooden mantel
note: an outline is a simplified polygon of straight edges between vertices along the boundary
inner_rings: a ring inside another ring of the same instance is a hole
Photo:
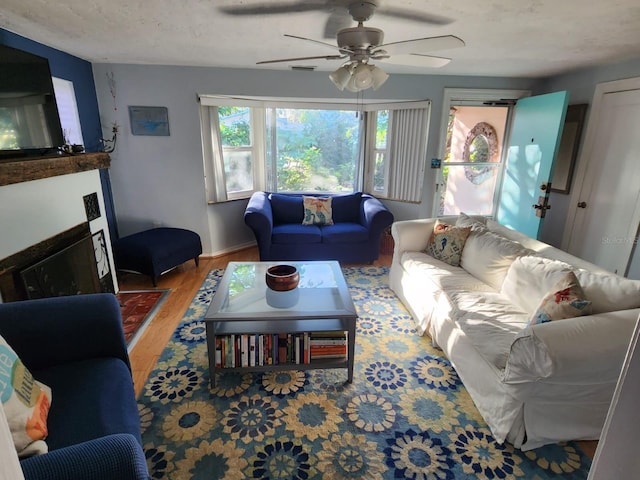
[[[0,158],[47,155],[64,143],[49,61],[0,45]]]

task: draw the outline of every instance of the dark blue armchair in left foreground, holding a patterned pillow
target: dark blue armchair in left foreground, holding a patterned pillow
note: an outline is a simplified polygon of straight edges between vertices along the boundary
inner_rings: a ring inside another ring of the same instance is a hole
[[[149,478],[115,295],[0,304],[0,335],[52,391],[49,453],[20,461],[26,480]]]

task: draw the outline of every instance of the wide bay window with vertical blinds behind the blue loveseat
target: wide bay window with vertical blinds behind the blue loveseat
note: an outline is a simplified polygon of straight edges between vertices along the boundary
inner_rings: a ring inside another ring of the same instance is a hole
[[[201,95],[200,103],[210,203],[258,190],[365,190],[420,201],[428,101],[356,106]]]

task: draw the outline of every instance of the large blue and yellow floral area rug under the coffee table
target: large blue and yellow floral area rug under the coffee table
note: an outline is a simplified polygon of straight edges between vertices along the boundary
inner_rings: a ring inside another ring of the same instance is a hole
[[[388,269],[343,272],[359,314],[352,384],[337,369],[226,373],[213,389],[203,317],[223,272],[210,272],[138,399],[153,479],[587,478],[574,443],[497,444]]]

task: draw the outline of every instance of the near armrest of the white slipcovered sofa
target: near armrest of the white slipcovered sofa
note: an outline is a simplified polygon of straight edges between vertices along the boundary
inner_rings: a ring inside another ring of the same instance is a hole
[[[504,383],[615,383],[640,309],[556,320],[523,329],[511,344]]]

